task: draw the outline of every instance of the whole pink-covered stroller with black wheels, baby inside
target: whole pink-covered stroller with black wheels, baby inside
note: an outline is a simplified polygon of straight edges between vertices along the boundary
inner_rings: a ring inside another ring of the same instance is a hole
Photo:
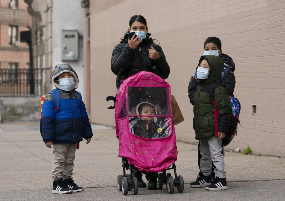
[[[146,113],[146,110],[152,113]],[[124,80],[115,98],[115,123],[119,157],[123,162],[123,175],[117,176],[119,191],[127,195],[132,190],[136,195],[138,183],[133,172],[140,171],[154,172],[159,190],[166,183],[169,193],[174,192],[174,187],[182,193],[183,177],[176,175],[174,164],[178,151],[170,85],[159,76],[143,71]],[[130,174],[126,174],[126,169]],[[175,178],[166,174],[170,169],[174,170]]]

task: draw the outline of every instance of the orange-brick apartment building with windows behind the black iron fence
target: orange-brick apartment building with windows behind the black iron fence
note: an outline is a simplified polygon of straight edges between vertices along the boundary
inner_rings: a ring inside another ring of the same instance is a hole
[[[20,32],[31,27],[31,17],[24,0],[0,1],[0,82],[5,85],[17,78],[17,69],[28,69],[29,48],[20,41]],[[8,76],[3,69],[15,70]],[[2,89],[2,88],[1,88]]]

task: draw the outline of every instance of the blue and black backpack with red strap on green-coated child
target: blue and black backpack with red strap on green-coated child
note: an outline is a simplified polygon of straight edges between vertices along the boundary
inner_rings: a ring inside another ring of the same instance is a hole
[[[215,135],[218,134],[218,116],[219,113],[217,111],[217,106],[215,103],[215,89],[218,86],[222,86],[219,82],[212,82],[209,88],[209,96],[211,103],[214,105],[214,115],[215,115]],[[222,146],[228,145],[235,135],[237,135],[237,125],[241,125],[239,121],[239,113],[241,111],[241,103],[235,97],[229,96],[229,100],[231,102],[231,125],[226,133],[226,137],[222,139]]]

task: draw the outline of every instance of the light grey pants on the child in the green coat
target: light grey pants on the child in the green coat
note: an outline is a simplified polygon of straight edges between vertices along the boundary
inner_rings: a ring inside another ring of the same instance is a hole
[[[218,137],[209,137],[200,140],[200,153],[202,155],[200,170],[203,175],[208,176],[211,174],[212,159],[215,165],[215,177],[226,178],[225,160],[222,154],[222,140]]]

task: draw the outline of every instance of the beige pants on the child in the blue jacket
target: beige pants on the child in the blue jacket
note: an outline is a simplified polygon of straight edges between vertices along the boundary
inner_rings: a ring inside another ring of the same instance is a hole
[[[52,161],[52,178],[70,178],[73,175],[75,151],[77,143],[75,145],[69,144],[54,144]]]

